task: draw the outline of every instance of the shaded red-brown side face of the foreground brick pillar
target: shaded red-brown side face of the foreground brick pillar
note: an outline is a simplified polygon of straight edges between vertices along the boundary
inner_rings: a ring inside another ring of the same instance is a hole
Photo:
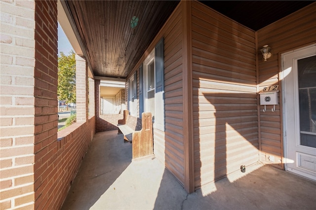
[[[35,141],[34,209],[54,198],[57,168],[57,0],[36,1],[35,7]]]

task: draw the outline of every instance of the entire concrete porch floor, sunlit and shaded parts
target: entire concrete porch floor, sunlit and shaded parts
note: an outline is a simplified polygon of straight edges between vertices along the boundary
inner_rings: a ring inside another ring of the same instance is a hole
[[[94,136],[62,210],[315,210],[316,182],[255,164],[187,194],[157,158],[131,162],[117,131]]]

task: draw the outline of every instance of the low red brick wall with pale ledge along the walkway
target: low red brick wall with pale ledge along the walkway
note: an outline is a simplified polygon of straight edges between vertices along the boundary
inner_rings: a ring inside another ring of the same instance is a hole
[[[56,156],[50,163],[54,166],[51,180],[55,186],[49,192],[49,202],[39,209],[61,209],[94,133],[95,117],[58,132]]]

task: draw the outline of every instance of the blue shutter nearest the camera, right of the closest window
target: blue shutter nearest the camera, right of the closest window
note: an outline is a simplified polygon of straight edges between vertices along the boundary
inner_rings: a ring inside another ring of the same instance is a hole
[[[163,38],[155,47],[155,127],[164,131],[164,58]]]

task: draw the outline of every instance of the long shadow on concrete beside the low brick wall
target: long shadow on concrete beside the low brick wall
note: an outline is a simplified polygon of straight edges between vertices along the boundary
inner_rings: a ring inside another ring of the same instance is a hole
[[[90,209],[131,163],[131,144],[117,133],[95,134],[62,210]]]

